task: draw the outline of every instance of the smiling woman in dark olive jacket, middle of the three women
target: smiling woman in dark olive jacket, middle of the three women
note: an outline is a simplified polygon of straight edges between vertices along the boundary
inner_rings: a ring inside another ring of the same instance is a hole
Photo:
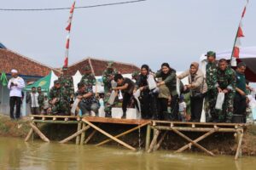
[[[161,82],[157,83],[157,86],[161,89],[165,89],[165,86],[168,88],[171,95],[171,115],[168,115],[168,119],[177,120],[177,111],[178,111],[178,102],[177,102],[177,80],[176,80],[176,71],[170,67],[168,63],[163,63],[161,65],[160,71],[157,71],[155,77],[161,79]],[[162,90],[162,91],[163,91]],[[166,90],[164,90],[166,92]],[[166,93],[165,93],[166,94]],[[169,98],[168,98],[169,99]],[[168,99],[166,97],[160,96],[158,98],[158,109],[160,116],[163,117],[167,112]]]

